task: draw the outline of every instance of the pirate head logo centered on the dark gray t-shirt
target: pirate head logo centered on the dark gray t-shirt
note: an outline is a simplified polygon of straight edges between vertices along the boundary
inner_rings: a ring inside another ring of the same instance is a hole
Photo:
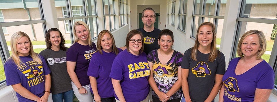
[[[206,75],[210,75],[211,71],[205,62],[199,62],[196,67],[191,69],[192,73],[196,75],[196,77],[205,77]]]

